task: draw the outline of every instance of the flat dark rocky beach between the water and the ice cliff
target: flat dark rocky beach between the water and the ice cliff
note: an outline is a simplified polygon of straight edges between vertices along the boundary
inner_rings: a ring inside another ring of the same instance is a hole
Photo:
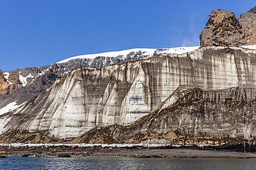
[[[0,146],[0,156],[131,156],[136,158],[256,158],[256,153],[221,149],[143,147],[29,147]]]

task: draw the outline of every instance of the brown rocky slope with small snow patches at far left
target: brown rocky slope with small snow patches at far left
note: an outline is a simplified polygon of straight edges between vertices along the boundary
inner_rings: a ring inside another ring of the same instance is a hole
[[[65,75],[56,68],[56,65],[47,65],[0,72],[0,108],[13,102],[21,105],[51,87],[56,78]]]

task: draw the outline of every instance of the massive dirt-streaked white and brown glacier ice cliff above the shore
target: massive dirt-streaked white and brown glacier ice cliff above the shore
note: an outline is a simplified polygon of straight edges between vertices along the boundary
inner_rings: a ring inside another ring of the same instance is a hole
[[[111,127],[109,134],[126,140],[143,131],[181,129],[186,136],[253,139],[255,60],[255,50],[201,47],[107,67],[80,67],[1,115],[0,130],[75,138],[93,128],[124,125]]]

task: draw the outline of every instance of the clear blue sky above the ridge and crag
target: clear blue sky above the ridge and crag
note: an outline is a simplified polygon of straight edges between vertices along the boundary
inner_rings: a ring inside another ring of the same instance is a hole
[[[0,70],[80,54],[199,45],[214,9],[239,14],[255,0],[0,0]]]

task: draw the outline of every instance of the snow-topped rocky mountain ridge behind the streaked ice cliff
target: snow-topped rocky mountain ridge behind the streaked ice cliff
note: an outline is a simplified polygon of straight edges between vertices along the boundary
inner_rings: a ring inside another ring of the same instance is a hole
[[[130,49],[117,52],[104,52],[100,54],[86,54],[74,56],[53,65],[30,67],[25,69],[2,72],[0,70],[0,114],[1,107],[10,103],[21,105],[26,100],[53,85],[60,78],[77,67],[105,67],[111,64],[149,59],[161,53],[182,54],[199,47],[174,47],[170,49]],[[15,106],[16,107],[16,106]],[[6,108],[3,108],[6,110]]]

